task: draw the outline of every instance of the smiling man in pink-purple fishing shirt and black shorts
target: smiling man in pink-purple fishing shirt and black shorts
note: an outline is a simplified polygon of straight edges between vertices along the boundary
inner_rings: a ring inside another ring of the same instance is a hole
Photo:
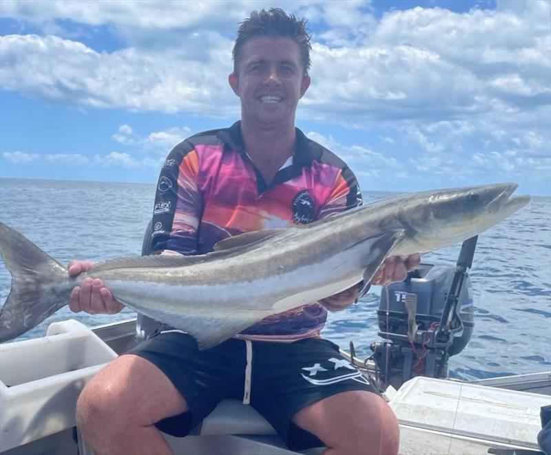
[[[156,253],[207,253],[230,235],[304,224],[361,203],[344,162],[295,129],[298,100],[310,85],[310,49],[305,21],[282,10],[253,12],[242,23],[229,75],[241,121],[192,136],[169,154],[156,193]],[[372,282],[403,279],[418,262],[418,255],[391,258]],[[69,272],[90,265],[72,262]],[[323,443],[328,455],[396,453],[391,409],[337,346],[319,337],[326,309],[350,306],[365,288],[359,283],[268,317],[202,352],[189,335],[163,330],[87,384],[77,405],[85,440],[98,454],[168,454],[159,430],[185,436],[233,397],[263,414],[290,448]],[[70,306],[123,308],[99,279],[75,288]]]

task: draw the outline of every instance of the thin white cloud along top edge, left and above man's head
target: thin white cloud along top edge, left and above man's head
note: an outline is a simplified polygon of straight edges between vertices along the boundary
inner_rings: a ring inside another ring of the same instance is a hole
[[[335,8],[331,1],[314,3],[300,0],[283,8],[300,14],[313,13],[320,23],[340,24],[340,30],[349,30],[337,17],[354,19],[365,11],[366,2],[350,0]],[[233,40],[236,28],[251,10],[273,8],[269,0],[209,1],[80,1],[3,0],[2,15],[16,19],[20,24],[32,24],[43,34],[56,34],[74,39],[105,33],[114,34],[129,47],[159,49],[185,45],[188,52],[200,59],[205,49],[216,45],[219,36]],[[313,6],[313,8],[311,8]],[[338,14],[335,14],[338,12]],[[216,30],[216,32],[212,32]],[[360,28],[358,27],[358,30]]]

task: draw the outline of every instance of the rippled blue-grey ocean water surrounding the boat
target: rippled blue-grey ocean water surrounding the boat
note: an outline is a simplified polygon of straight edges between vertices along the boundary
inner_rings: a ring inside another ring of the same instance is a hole
[[[153,184],[0,179],[0,220],[29,237],[62,264],[139,254],[152,215]],[[364,192],[365,202],[393,193]],[[460,245],[423,256],[455,264]],[[470,273],[475,329],[450,358],[450,376],[481,379],[551,370],[551,198],[534,197],[511,218],[479,236]],[[0,263],[0,304],[10,275]],[[322,335],[356,356],[371,355],[377,336],[381,288],[348,310],[331,313]],[[23,337],[41,337],[53,321],[74,318],[88,326],[134,317],[59,310]]]

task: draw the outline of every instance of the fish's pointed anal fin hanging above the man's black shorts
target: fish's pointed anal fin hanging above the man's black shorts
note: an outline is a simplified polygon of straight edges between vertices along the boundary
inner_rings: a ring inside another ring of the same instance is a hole
[[[219,316],[216,317],[207,313],[196,313],[195,315],[190,313],[183,315],[176,312],[165,313],[152,308],[142,309],[141,311],[146,316],[189,333],[196,339],[200,350],[213,348],[271,314],[259,311],[239,312],[229,310],[218,313]]]

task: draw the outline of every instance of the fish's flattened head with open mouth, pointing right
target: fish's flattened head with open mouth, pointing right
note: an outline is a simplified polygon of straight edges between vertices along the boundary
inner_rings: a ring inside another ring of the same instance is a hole
[[[430,251],[478,235],[524,207],[530,197],[510,196],[517,184],[500,183],[431,191],[402,207],[406,232]]]

